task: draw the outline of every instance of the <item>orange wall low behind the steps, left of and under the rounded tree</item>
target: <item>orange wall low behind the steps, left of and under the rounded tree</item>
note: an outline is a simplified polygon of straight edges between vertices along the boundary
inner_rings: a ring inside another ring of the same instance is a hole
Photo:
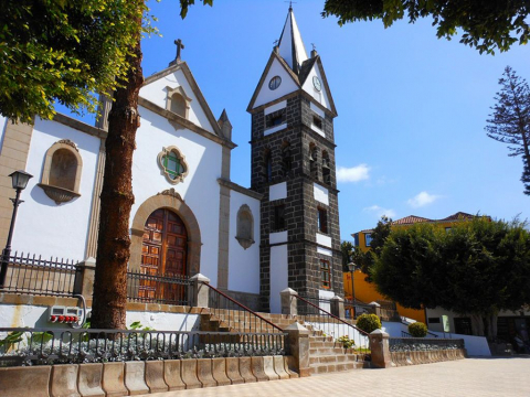
[[[354,289],[356,289],[356,299],[364,303],[370,303],[378,300],[389,300],[385,299],[381,293],[375,290],[373,283],[364,281],[364,275],[361,270],[356,270],[353,273]],[[348,300],[351,300],[351,272],[343,272],[344,279],[344,297]],[[423,309],[407,309],[403,308],[401,304],[396,303],[398,312],[400,315],[404,315],[416,321],[425,322],[425,311]]]

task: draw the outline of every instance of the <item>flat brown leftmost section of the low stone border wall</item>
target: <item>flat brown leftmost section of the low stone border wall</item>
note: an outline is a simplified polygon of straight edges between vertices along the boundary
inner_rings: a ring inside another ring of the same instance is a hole
[[[52,367],[26,366],[0,368],[0,391],[9,397],[50,397]]]

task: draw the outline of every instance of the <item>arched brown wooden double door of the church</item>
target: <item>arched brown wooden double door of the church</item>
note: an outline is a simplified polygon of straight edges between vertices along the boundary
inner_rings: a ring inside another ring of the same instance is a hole
[[[188,233],[182,219],[172,211],[155,211],[144,227],[141,247],[140,297],[178,304],[186,297]],[[151,276],[151,277],[149,277]]]

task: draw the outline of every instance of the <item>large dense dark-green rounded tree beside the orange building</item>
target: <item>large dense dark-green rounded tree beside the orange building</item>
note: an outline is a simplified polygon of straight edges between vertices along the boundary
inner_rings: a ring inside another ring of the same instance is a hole
[[[492,340],[499,311],[520,310],[530,301],[526,227],[517,219],[477,217],[451,233],[430,224],[394,229],[372,269],[373,280],[378,291],[404,307],[469,315],[474,333]]]

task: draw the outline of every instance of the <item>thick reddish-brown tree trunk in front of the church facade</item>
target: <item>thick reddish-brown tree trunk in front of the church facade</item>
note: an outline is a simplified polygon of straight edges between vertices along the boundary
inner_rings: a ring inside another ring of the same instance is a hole
[[[141,4],[141,2],[140,2]],[[136,130],[140,125],[138,94],[141,73],[140,26],[129,58],[126,82],[114,93],[105,142],[105,173],[100,195],[99,235],[94,280],[92,328],[125,329],[127,307],[127,264],[130,251],[129,218],[132,195],[132,153]]]

